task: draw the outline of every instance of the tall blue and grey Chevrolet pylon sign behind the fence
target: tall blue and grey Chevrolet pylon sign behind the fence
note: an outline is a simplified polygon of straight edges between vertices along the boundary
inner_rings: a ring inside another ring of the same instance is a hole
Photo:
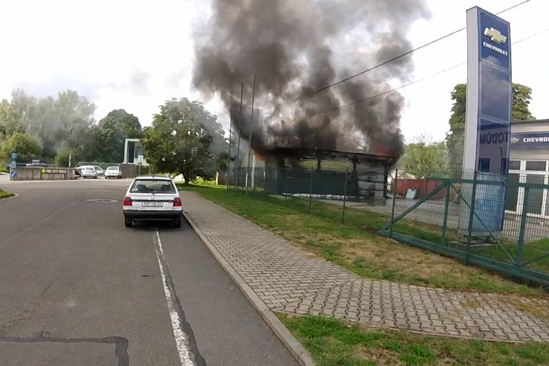
[[[467,10],[467,117],[463,168],[478,172],[478,216],[473,228],[467,218],[461,228],[500,231],[511,143],[511,27],[509,22],[475,7]],[[502,182],[502,186],[482,184]],[[464,187],[472,193],[472,186]],[[469,212],[467,211],[467,214]]]

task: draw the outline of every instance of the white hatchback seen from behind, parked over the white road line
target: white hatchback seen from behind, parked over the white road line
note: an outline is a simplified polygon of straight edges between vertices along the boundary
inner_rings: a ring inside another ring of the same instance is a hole
[[[131,228],[134,221],[172,221],[181,227],[183,204],[176,184],[170,178],[141,176],[132,181],[126,191],[124,223]]]

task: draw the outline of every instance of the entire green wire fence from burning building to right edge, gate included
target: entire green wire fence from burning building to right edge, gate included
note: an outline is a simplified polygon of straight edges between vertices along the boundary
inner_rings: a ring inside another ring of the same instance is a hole
[[[349,208],[373,212],[387,218],[384,236],[549,285],[549,172],[354,170],[231,169],[227,190],[309,212],[330,204],[342,222]]]

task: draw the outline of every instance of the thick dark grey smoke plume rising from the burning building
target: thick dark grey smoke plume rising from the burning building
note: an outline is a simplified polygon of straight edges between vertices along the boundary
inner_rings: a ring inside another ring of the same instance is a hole
[[[242,138],[252,130],[259,154],[277,147],[358,151],[363,146],[375,154],[403,154],[399,93],[316,113],[382,93],[391,81],[405,82],[413,71],[411,58],[311,93],[412,48],[406,32],[429,15],[423,0],[212,0],[212,12],[195,36],[194,86],[220,95]],[[275,107],[255,110],[252,121],[253,73],[255,106]],[[296,100],[278,105],[288,99]]]

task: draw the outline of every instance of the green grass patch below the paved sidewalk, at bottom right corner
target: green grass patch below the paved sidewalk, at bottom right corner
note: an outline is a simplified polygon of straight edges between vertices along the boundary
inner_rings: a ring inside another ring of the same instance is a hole
[[[432,337],[349,325],[323,317],[277,314],[318,366],[549,365],[547,343]]]

